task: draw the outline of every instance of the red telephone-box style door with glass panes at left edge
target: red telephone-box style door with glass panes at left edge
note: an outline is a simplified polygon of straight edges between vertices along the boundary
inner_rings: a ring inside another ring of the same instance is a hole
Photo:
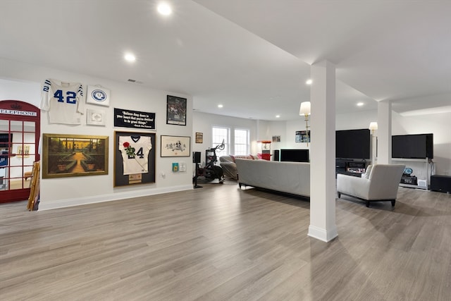
[[[39,161],[40,110],[27,102],[0,101],[0,202],[26,200],[33,163]]]

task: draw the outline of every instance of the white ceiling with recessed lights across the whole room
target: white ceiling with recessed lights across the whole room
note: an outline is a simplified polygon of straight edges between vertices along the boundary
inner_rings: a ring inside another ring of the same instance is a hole
[[[0,57],[133,79],[191,94],[199,111],[261,120],[299,118],[310,64],[328,60],[339,113],[375,100],[399,113],[450,109],[451,1],[166,0],[166,17],[158,2],[1,0]]]

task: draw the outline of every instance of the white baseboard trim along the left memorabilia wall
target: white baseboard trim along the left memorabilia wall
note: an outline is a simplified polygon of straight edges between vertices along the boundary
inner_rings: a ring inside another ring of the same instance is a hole
[[[83,197],[82,199],[58,199],[54,201],[39,202],[39,210],[45,211],[51,209],[60,209],[74,207],[85,204],[95,204],[101,202],[111,202],[120,199],[130,199],[132,197],[147,197],[148,195],[160,195],[162,193],[177,192],[183,190],[192,190],[192,185],[171,186],[167,188],[152,188],[149,190],[137,190],[126,192],[115,192],[109,195],[95,195],[93,197]]]

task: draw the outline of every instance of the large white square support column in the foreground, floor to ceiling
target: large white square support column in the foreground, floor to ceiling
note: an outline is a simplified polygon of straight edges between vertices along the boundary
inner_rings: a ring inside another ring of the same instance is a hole
[[[335,66],[311,66],[310,226],[308,235],[328,242],[335,224]]]

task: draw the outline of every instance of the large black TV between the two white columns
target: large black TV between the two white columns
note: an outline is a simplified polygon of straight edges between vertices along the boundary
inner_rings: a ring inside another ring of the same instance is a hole
[[[335,131],[335,157],[370,159],[371,135],[367,128]]]

